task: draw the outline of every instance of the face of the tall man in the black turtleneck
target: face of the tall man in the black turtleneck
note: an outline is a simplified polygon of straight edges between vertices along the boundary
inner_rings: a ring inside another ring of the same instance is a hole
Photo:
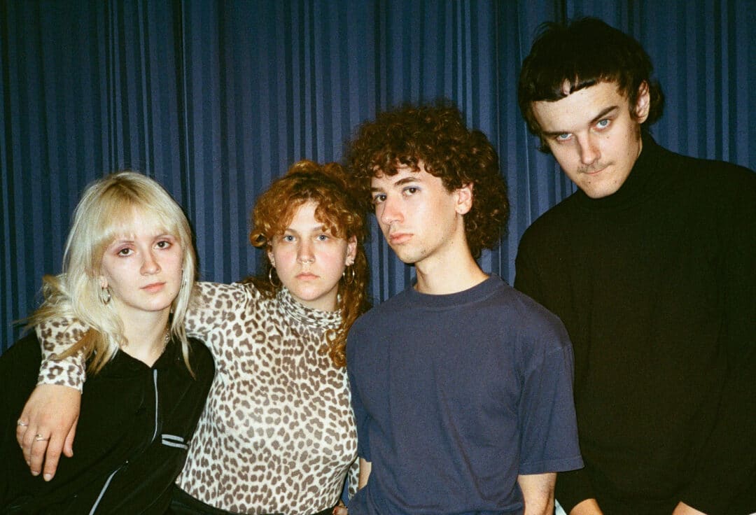
[[[599,82],[558,101],[533,103],[541,135],[565,174],[591,198],[624,184],[640,155],[640,124],[649,115],[649,88],[640,87],[636,116],[615,82]]]

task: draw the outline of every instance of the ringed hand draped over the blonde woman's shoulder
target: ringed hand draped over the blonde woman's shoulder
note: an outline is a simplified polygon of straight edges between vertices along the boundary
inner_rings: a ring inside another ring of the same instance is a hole
[[[45,465],[44,479],[55,476],[61,451],[73,456],[73,436],[79,420],[82,394],[69,386],[41,384],[37,386],[16,426],[16,439],[33,476],[39,476]]]

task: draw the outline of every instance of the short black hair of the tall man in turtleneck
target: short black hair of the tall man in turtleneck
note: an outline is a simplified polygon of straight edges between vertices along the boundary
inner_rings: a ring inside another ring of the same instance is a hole
[[[558,101],[599,82],[615,82],[635,116],[638,92],[646,82],[650,105],[642,126],[647,127],[664,110],[664,94],[658,81],[651,79],[652,71],[651,58],[640,43],[602,20],[586,17],[572,23],[542,23],[530,54],[522,62],[519,107],[530,132],[541,138],[540,150],[549,153],[533,102]],[[565,83],[569,84],[567,92]]]

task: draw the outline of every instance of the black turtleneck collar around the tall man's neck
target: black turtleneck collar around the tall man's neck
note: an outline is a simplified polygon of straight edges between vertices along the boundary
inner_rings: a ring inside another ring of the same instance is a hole
[[[635,206],[656,191],[665,180],[665,171],[658,166],[663,149],[646,131],[641,133],[643,147],[635,161],[630,175],[620,188],[608,197],[590,198],[582,190],[575,194],[578,205],[584,209],[606,210],[624,209]],[[661,172],[661,173],[660,173]]]

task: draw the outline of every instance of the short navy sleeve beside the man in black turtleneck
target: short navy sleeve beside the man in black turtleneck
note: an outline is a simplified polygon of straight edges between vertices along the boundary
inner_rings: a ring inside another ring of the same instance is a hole
[[[551,315],[553,317],[553,315]],[[583,467],[572,398],[572,345],[562,323],[531,321],[542,329],[519,401],[520,474],[562,472]]]

